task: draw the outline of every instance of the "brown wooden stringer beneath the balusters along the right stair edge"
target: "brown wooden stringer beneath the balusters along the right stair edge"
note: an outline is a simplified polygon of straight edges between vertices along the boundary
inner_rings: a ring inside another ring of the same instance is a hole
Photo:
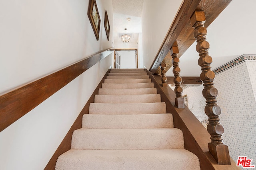
[[[167,113],[172,113],[174,127],[181,129],[184,135],[184,147],[190,152],[196,154],[202,170],[240,170],[236,162],[230,159],[230,165],[220,165],[208,149],[210,134],[204,128],[202,123],[195,115],[185,106],[184,109],[175,107],[176,94],[170,87],[162,87],[160,75],[153,75],[148,72],[154,87],[157,88],[158,94],[161,94],[161,101],[166,103]]]

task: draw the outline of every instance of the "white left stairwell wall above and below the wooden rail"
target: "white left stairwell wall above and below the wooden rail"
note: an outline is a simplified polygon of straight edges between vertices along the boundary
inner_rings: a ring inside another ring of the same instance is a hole
[[[112,25],[112,2],[96,2],[99,41],[87,16],[89,0],[0,1],[0,93],[111,48],[104,12]],[[2,131],[0,169],[43,169],[112,63],[109,55]]]

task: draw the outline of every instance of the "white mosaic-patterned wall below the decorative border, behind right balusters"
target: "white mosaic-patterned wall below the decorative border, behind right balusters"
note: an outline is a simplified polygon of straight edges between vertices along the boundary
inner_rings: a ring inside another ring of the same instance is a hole
[[[214,83],[219,92],[217,103],[222,109],[223,139],[230,156],[235,162],[238,156],[248,156],[256,165],[256,61],[246,61],[219,72]],[[188,107],[200,121],[204,118],[203,88],[189,87],[183,92],[188,95]]]

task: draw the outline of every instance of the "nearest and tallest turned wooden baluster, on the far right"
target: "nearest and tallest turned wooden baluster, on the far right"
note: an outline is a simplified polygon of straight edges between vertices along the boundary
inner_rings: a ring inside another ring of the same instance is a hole
[[[210,47],[206,41],[207,30],[204,27],[205,15],[203,11],[196,11],[190,18],[192,27],[195,28],[194,37],[196,38],[196,51],[199,53],[198,64],[201,66],[201,80],[204,82],[203,96],[206,98],[204,111],[209,117],[207,131],[211,135],[211,142],[208,143],[209,152],[212,154],[218,164],[230,164],[228,146],[222,142],[224,128],[220,124],[220,107],[217,105],[216,97],[218,90],[214,88],[214,72],[211,70],[212,57],[208,53]]]

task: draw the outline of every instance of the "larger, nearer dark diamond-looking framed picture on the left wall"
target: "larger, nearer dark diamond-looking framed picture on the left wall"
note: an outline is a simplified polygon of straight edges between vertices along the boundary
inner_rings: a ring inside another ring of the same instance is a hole
[[[90,23],[92,25],[92,29],[96,36],[96,39],[99,41],[99,34],[100,34],[100,15],[98,12],[96,0],[90,0],[89,8],[88,8],[88,17]]]

